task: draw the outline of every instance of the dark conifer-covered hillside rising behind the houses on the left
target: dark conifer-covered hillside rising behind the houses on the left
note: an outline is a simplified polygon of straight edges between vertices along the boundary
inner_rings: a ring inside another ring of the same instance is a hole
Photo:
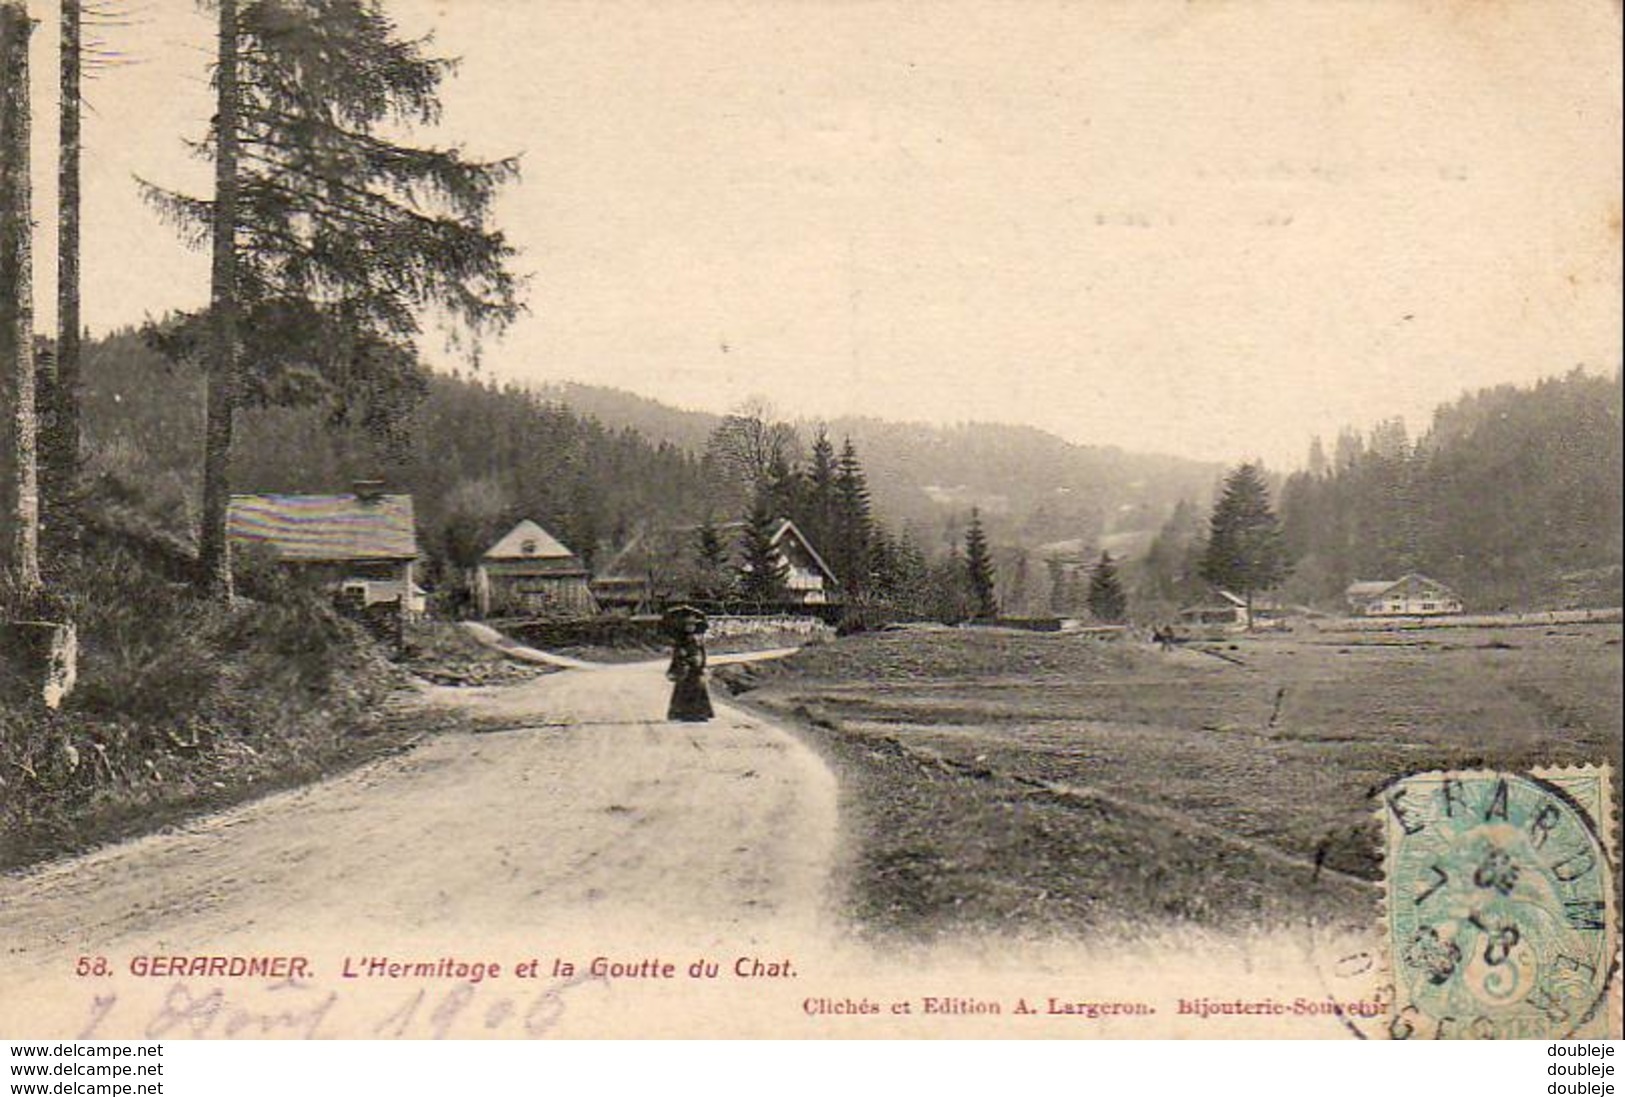
[[[198,371],[125,330],[86,348],[84,380],[93,515],[190,541],[203,424]],[[479,377],[419,380],[416,405],[393,416],[327,398],[244,410],[234,489],[343,491],[353,479],[382,476],[416,496],[424,548],[437,564],[471,562],[523,515],[592,556],[639,523],[704,510],[702,460],[687,450]]]

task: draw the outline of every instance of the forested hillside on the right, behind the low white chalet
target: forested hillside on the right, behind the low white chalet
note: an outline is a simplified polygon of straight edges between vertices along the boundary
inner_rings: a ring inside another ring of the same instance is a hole
[[[1274,483],[1292,574],[1280,593],[1341,609],[1355,580],[1422,572],[1469,609],[1620,601],[1620,377],[1571,372],[1438,408],[1412,439],[1389,419],[1316,440]],[[1180,507],[1136,570],[1142,601],[1202,596],[1206,514]]]

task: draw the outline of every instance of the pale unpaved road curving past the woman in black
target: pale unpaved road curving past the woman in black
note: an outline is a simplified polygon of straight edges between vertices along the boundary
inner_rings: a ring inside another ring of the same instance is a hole
[[[816,931],[834,777],[723,702],[666,723],[666,691],[660,665],[432,689],[500,730],[0,879],[0,991],[80,954]]]

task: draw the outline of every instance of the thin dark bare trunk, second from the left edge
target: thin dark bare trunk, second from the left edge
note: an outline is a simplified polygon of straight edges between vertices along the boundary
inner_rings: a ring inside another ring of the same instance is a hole
[[[60,146],[57,153],[57,371],[46,444],[46,512],[58,541],[78,527],[80,478],[80,0],[62,0]]]

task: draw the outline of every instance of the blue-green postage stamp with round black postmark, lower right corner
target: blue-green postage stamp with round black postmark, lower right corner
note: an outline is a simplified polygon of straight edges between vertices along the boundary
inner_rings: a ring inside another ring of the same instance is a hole
[[[1618,1037],[1610,777],[1432,772],[1383,791],[1391,1035]]]

